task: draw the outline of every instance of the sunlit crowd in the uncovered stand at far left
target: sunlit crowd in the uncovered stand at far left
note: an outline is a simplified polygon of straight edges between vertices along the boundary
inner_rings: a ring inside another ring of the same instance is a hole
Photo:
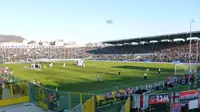
[[[1,48],[0,61],[18,62],[28,59],[71,59],[87,58],[86,51],[94,47],[33,47],[33,48]]]

